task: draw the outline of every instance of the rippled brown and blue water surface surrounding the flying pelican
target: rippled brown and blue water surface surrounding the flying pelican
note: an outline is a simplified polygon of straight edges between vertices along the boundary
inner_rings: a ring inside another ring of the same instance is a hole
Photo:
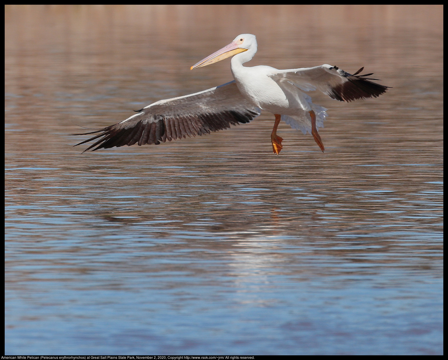
[[[8,6],[5,353],[442,355],[441,19]],[[286,124],[272,154],[268,113],[160,146],[72,147],[78,125],[229,81],[228,61],[189,68],[242,32],[258,39],[247,65],[365,66],[392,89],[313,94],[324,154]]]

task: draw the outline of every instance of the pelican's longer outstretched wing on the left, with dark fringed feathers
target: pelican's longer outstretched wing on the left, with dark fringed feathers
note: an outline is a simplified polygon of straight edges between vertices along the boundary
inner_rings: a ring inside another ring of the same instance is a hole
[[[230,125],[248,123],[260,115],[260,109],[246,100],[235,84],[213,87],[195,94],[160,100],[142,108],[118,124],[91,133],[97,134],[77,145],[99,138],[86,150],[101,148],[138,146],[209,134],[230,128]]]

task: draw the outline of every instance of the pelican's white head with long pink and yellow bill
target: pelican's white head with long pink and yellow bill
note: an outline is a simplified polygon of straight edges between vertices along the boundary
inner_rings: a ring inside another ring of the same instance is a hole
[[[217,63],[218,61],[227,59],[230,56],[237,55],[240,52],[248,50],[250,50],[251,56],[248,57],[248,60],[246,61],[252,59],[252,57],[255,55],[255,52],[257,52],[257,39],[255,38],[255,35],[252,34],[240,34],[235,39],[233,39],[230,44],[224,46],[223,48],[215,51],[213,54],[194,64],[190,68],[190,70]]]

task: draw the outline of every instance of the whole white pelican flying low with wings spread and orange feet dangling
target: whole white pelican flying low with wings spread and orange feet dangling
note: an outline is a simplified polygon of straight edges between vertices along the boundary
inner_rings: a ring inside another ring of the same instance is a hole
[[[323,151],[318,128],[323,127],[327,109],[311,102],[308,91],[320,90],[332,99],[349,102],[356,99],[378,97],[388,86],[369,80],[364,74],[349,74],[336,66],[323,64],[313,68],[279,70],[271,66],[243,66],[257,52],[255,35],[238,35],[230,44],[194,64],[190,69],[214,64],[230,56],[233,81],[198,93],[159,100],[143,107],[137,114],[118,124],[98,129],[96,134],[75,146],[99,138],[86,150],[95,147],[159,145],[161,142],[191,137],[230,128],[230,125],[248,123],[261,110],[275,116],[271,133],[272,151],[279,154],[282,138],[277,135],[280,120],[303,134],[313,135]]]

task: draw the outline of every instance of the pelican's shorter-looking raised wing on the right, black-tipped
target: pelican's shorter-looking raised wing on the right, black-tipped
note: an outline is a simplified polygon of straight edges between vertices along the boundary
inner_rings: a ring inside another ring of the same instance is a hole
[[[388,86],[383,86],[369,80],[370,74],[349,74],[336,66],[324,64],[314,68],[278,70],[270,75],[276,82],[288,81],[303,91],[320,90],[332,99],[353,101],[356,99],[376,98],[386,92]]]

